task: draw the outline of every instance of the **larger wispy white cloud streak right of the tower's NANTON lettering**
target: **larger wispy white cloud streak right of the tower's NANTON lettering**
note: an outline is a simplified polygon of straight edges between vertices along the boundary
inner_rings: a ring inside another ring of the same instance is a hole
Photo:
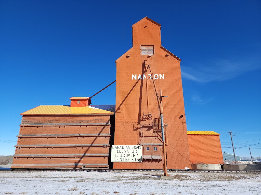
[[[222,60],[208,63],[207,65],[198,64],[191,67],[181,67],[183,79],[204,83],[210,81],[224,81],[233,79],[245,72],[261,68],[260,60],[247,62],[232,62]]]

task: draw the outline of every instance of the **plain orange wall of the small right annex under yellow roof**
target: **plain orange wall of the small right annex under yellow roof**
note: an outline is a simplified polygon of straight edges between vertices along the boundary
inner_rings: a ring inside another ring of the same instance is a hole
[[[188,135],[191,163],[223,164],[219,135]]]

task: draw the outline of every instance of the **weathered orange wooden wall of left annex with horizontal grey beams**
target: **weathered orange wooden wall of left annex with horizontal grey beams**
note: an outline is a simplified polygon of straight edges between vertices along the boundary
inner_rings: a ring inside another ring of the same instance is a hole
[[[17,137],[12,168],[108,168],[110,115],[25,115]]]

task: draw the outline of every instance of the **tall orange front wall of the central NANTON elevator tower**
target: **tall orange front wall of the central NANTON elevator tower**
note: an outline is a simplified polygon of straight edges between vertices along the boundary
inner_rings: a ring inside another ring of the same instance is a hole
[[[143,79],[132,79],[132,74],[145,73],[145,60],[154,74],[164,74],[157,79],[158,90],[162,90],[164,123],[169,126],[167,160],[172,169],[191,167],[189,158],[185,108],[182,91],[180,60],[161,46],[161,27],[149,18],[143,18],[132,26],[133,47],[116,60],[116,114],[115,145],[136,145],[157,143],[151,126],[154,118],[159,118],[157,97],[152,80],[148,80],[150,112],[152,121],[141,122],[147,113],[146,83]],[[155,55],[141,55],[141,45],[154,45]],[[167,55],[167,54],[170,55]],[[129,55],[129,57],[127,56]],[[150,73],[148,73],[150,74]],[[143,76],[142,76],[143,77]],[[148,78],[148,76],[147,76]],[[179,119],[179,116],[184,117]],[[160,134],[160,133],[159,133]],[[162,168],[162,161],[142,163],[114,162],[114,168]]]

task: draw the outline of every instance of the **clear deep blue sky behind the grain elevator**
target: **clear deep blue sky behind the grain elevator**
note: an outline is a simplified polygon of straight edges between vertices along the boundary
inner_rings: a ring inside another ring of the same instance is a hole
[[[132,25],[160,23],[181,61],[187,129],[220,133],[222,150],[261,142],[260,1],[1,1],[0,155],[14,154],[20,113],[68,105],[115,80]],[[92,99],[115,104],[115,83]],[[241,148],[238,148],[241,147]],[[253,145],[261,156],[261,144]]]

